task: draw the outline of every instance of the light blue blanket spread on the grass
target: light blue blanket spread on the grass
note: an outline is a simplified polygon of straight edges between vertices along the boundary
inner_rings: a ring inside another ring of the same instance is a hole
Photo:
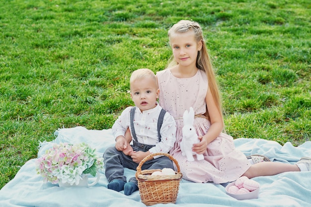
[[[87,130],[83,127],[60,129],[53,142],[87,142],[103,153],[114,145],[111,130]],[[40,144],[38,157],[53,142]],[[295,163],[302,156],[311,156],[311,141],[294,147],[290,142],[283,146],[275,141],[255,138],[238,138],[235,146],[246,155],[263,154],[272,161]],[[128,178],[134,170],[125,170]],[[0,207],[144,207],[139,192],[125,196],[123,192],[107,189],[104,172],[99,182],[89,188],[60,188],[43,183],[36,174],[35,159],[25,163],[14,179],[0,190]],[[91,180],[95,179],[91,177]],[[176,204],[158,204],[155,207],[311,207],[311,172],[287,172],[275,176],[257,177],[260,183],[258,199],[238,201],[226,194],[225,186],[213,183],[193,183],[182,180]]]

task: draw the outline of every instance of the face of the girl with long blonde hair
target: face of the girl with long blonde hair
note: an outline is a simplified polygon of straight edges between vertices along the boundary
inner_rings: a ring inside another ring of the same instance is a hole
[[[202,49],[202,41],[195,40],[192,30],[171,34],[170,44],[174,59],[180,66],[196,66],[198,51]]]

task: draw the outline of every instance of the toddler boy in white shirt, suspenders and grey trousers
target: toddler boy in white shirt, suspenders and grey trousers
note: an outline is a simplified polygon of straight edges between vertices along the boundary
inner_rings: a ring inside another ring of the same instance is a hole
[[[130,89],[135,107],[127,107],[115,121],[112,134],[116,144],[107,148],[103,155],[108,189],[124,190],[125,195],[137,191],[138,182],[135,177],[127,182],[124,167],[136,170],[146,156],[167,153],[176,140],[174,118],[157,103],[159,89],[155,73],[150,69],[135,70],[130,78]],[[127,129],[131,136],[125,136]],[[163,168],[174,169],[166,156],[155,156],[142,166],[142,170]]]

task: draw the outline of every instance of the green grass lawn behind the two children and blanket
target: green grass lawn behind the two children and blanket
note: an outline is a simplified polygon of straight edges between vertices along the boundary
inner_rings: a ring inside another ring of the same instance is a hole
[[[129,76],[164,69],[167,30],[204,28],[226,132],[311,136],[308,0],[0,0],[0,188],[58,128],[101,130],[132,105]]]

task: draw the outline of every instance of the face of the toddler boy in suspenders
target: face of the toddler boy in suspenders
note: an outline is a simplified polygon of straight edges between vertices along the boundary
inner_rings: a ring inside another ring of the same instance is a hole
[[[155,80],[151,77],[135,80],[131,83],[132,100],[141,111],[155,108],[158,96],[159,89]]]

